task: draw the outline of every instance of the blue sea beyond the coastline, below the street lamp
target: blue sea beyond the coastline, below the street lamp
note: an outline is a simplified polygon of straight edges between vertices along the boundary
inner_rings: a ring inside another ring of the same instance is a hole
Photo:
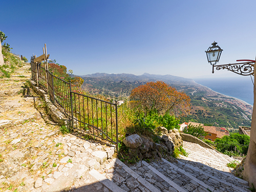
[[[200,78],[193,80],[202,86],[210,88],[212,91],[241,99],[253,105],[253,83],[250,76],[243,76],[242,78]]]

